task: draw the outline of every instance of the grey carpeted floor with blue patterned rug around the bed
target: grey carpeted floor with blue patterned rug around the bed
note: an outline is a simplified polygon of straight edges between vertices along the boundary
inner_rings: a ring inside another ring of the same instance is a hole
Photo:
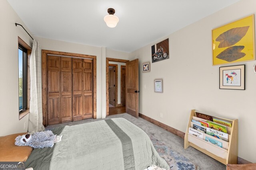
[[[184,149],[184,139],[142,119],[123,113],[118,115],[108,116],[106,119],[115,117],[123,117],[128,121],[134,123],[145,131],[154,147],[158,151],[159,155],[166,159],[166,162],[171,164],[172,170],[226,170],[226,166],[210,156],[192,148],[188,147]],[[82,121],[74,121],[69,123],[63,123],[58,125],[50,125],[46,129],[52,129],[54,127],[60,127],[65,125],[77,125],[81,123],[88,123],[92,121],[98,121],[102,119],[88,119]]]

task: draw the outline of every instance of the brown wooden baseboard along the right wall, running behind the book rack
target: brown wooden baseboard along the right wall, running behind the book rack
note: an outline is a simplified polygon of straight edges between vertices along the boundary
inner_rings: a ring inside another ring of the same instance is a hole
[[[166,131],[173,133],[174,135],[177,135],[178,137],[181,137],[182,139],[184,139],[185,137],[185,133],[182,131],[179,131],[178,129],[175,129],[173,127],[170,127],[164,123],[161,123],[160,121],[157,121],[155,119],[152,119],[151,117],[148,117],[146,115],[143,115],[141,113],[139,113],[139,117],[141,117],[142,119],[145,119],[146,121],[149,121],[151,123],[153,123],[154,125],[157,125],[158,127],[161,127],[162,129],[165,129]],[[245,160],[243,158],[237,157],[237,164],[251,164],[252,162]]]

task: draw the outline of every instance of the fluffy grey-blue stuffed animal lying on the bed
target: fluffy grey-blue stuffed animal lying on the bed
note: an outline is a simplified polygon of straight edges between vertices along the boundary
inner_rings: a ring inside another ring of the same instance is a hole
[[[15,139],[17,146],[30,146],[32,148],[42,149],[44,147],[53,147],[54,143],[60,142],[63,135],[54,135],[52,131],[38,131],[18,136]]]

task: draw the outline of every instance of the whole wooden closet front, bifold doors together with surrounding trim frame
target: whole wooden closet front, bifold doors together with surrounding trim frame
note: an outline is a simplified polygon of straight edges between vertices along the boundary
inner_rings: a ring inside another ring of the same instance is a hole
[[[96,86],[96,56],[42,50],[44,125],[96,119]]]

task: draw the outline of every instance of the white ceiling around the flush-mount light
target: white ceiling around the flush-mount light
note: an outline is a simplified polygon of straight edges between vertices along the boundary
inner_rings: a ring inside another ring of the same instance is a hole
[[[124,52],[144,47],[237,1],[8,0],[34,36]],[[103,21],[108,8],[114,8],[119,18],[115,28]]]

